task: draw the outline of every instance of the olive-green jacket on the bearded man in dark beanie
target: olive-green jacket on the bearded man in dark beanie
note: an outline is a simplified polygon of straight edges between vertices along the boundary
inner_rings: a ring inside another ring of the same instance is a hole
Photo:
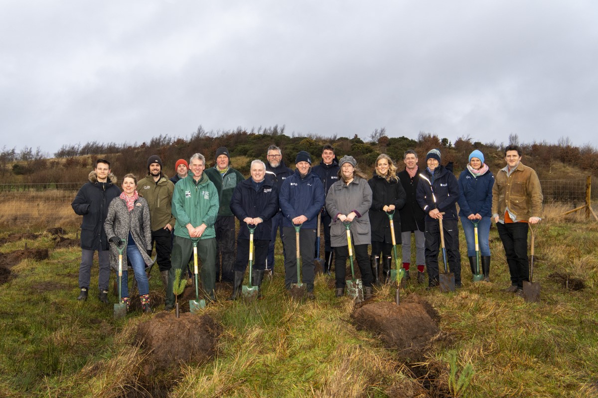
[[[166,224],[175,227],[175,218],[172,216],[170,208],[174,190],[175,184],[166,175],[162,175],[158,183],[151,175],[139,180],[137,192],[148,202],[152,231],[163,229]]]

